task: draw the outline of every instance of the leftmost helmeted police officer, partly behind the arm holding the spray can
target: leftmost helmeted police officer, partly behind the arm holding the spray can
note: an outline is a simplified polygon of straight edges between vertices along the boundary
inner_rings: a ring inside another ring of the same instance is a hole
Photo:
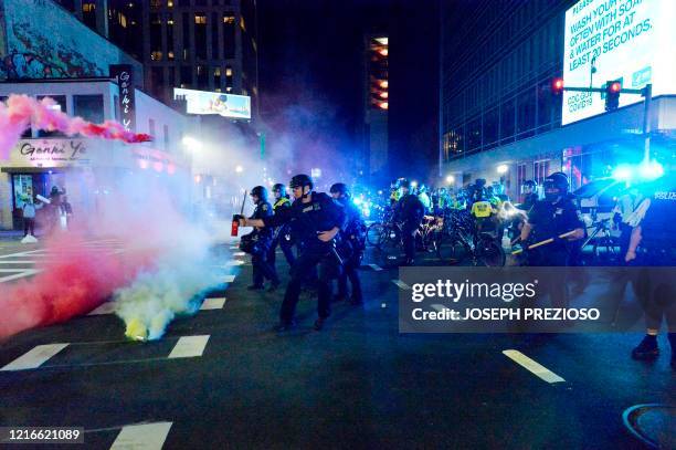
[[[250,219],[265,219],[272,216],[273,209],[267,201],[267,189],[256,186],[251,190],[251,198],[256,208]],[[242,250],[251,253],[253,266],[253,284],[247,287],[250,291],[264,289],[265,279],[271,281],[268,291],[274,291],[279,285],[275,266],[267,261],[272,240],[273,230],[270,228],[254,228],[250,234],[242,237]]]

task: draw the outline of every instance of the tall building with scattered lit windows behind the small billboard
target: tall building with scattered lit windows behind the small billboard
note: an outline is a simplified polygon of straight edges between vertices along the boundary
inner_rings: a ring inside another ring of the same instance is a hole
[[[252,97],[258,112],[255,0],[60,0],[136,59],[165,103],[173,87]],[[107,11],[102,21],[99,11]],[[98,11],[98,12],[97,12]]]

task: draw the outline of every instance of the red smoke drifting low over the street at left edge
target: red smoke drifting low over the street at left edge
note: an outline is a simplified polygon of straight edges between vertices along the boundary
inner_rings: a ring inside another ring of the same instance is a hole
[[[45,248],[56,261],[36,264],[42,272],[29,280],[0,283],[0,339],[92,311],[154,259],[148,250],[110,254],[83,243],[78,233],[55,236]]]

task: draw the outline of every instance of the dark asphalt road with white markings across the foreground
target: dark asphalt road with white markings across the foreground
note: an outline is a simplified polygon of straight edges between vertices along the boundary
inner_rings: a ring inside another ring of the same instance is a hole
[[[40,254],[19,250],[0,248],[0,261]],[[402,335],[398,271],[370,259],[363,307],[334,304],[315,332],[304,294],[298,328],[277,335],[283,290],[246,291],[249,259],[230,258],[244,261],[240,273],[210,295],[225,301],[178,318],[159,342],[126,342],[122,321],[101,314],[1,343],[0,426],[82,427],[96,449],[624,449],[643,448],[623,426],[626,408],[676,402],[663,337],[663,355],[645,364],[629,356],[638,334]],[[0,268],[10,265],[33,268]],[[277,269],[287,279],[281,254]],[[46,346],[38,367],[7,368],[36,346]]]

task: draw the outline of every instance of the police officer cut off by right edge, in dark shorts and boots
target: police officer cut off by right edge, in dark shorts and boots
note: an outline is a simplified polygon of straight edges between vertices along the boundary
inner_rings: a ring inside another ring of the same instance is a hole
[[[654,266],[676,265],[676,177],[669,174],[651,189],[654,193],[629,218],[633,227],[625,262],[652,266],[641,272],[636,285],[645,310],[647,333],[632,350],[634,359],[655,359],[659,355],[657,333],[666,320],[672,347],[672,368],[676,369],[676,282]],[[643,253],[637,257],[637,249]]]

